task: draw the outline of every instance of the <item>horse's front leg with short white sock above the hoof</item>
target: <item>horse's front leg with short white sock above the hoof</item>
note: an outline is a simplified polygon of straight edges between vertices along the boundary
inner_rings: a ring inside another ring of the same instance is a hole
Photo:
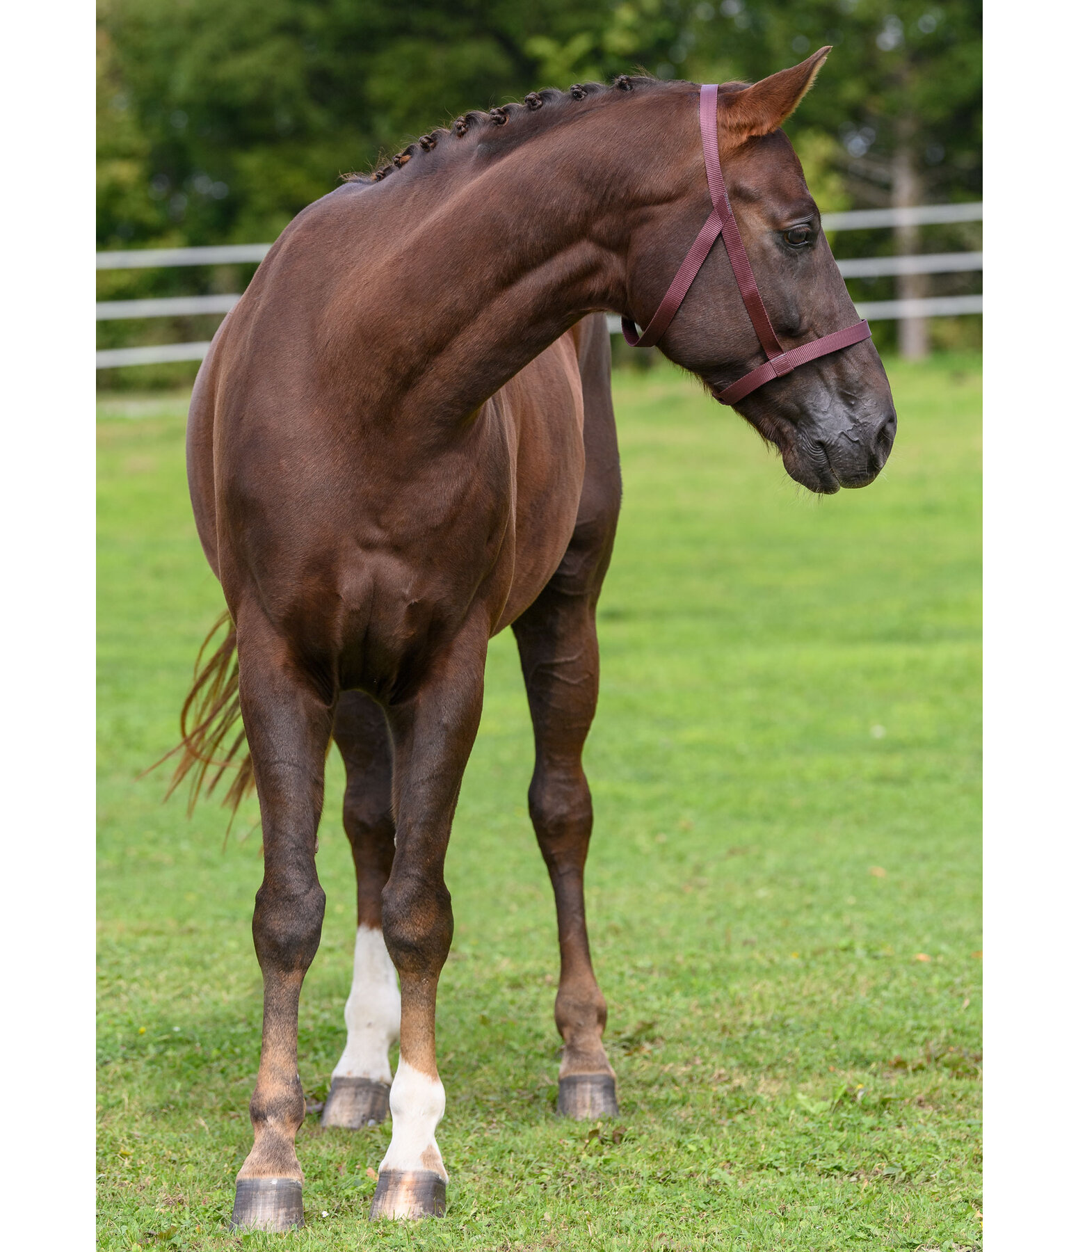
[[[448,1174],[434,1141],[446,1092],[434,1057],[438,977],[453,938],[443,875],[461,779],[480,725],[487,622],[471,623],[406,701],[388,709],[397,850],[382,893],[386,947],[401,975],[401,1059],[389,1092],[393,1138],[371,1217],[446,1211]]]

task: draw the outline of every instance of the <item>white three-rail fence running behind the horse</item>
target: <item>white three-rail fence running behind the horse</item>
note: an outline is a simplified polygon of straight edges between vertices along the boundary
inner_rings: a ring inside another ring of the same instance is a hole
[[[979,222],[984,205],[919,204],[904,209],[854,209],[824,213],[824,230],[870,230],[899,225],[932,225],[948,222]],[[272,244],[224,244],[218,248],[141,248],[134,252],[99,252],[98,269],[150,269],[173,265],[234,265],[262,260]],[[883,278],[895,274],[957,274],[983,268],[983,253],[938,252],[915,257],[853,257],[838,262],[843,278]],[[160,299],[103,300],[96,307],[99,322],[150,317],[195,317],[227,313],[239,299],[224,295],[174,295]],[[856,304],[861,317],[876,321],[910,317],[955,317],[982,313],[980,295],[940,295],[924,299],[869,300]],[[621,331],[621,319],[610,314],[610,333]],[[146,344],[140,348],[106,348],[98,353],[98,369],[118,366],[151,366],[169,361],[202,361],[209,341],[198,343]]]

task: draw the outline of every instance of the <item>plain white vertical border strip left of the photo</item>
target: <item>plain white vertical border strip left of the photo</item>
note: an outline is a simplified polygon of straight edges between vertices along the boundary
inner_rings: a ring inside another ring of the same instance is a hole
[[[94,6],[18,4],[4,36],[4,1241],[74,1248],[95,1238]]]

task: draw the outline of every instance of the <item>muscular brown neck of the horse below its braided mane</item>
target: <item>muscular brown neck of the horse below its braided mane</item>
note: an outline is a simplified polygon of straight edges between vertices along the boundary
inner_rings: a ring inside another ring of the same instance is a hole
[[[625,307],[634,224],[670,197],[676,167],[671,128],[649,129],[641,116],[674,101],[647,101],[650,110],[630,103],[611,101],[487,168],[472,162],[426,185],[387,185],[394,194],[371,208],[387,214],[389,229],[381,257],[367,254],[356,327],[362,336],[377,323],[379,344],[392,341],[392,351],[373,362],[362,339],[354,344],[368,384],[452,421],[582,314]],[[363,212],[362,200],[356,208]]]

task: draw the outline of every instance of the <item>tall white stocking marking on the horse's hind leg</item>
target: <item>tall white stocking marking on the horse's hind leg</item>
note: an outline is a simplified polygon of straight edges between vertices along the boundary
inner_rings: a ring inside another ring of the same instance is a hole
[[[356,931],[356,964],[344,1024],[348,1043],[333,1077],[391,1083],[389,1044],[401,1035],[401,992],[382,931],[372,926],[359,926]]]

